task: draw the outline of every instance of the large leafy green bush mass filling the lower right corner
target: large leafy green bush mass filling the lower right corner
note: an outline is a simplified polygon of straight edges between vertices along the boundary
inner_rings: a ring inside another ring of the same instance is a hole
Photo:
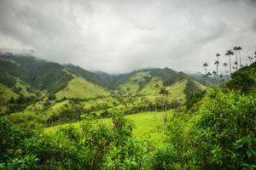
[[[154,169],[256,168],[256,99],[215,89],[189,117],[173,117]]]

